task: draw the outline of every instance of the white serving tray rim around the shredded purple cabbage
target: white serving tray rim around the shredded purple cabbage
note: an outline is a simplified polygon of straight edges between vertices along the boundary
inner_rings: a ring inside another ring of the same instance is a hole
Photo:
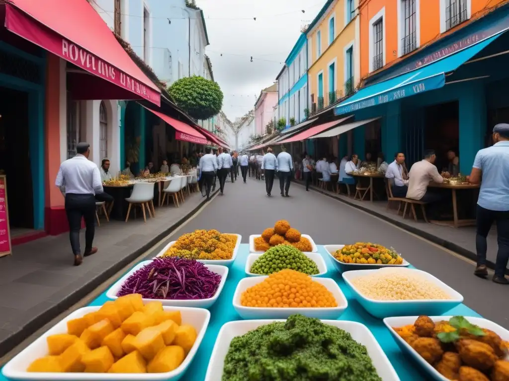
[[[117,299],[117,293],[122,288],[122,284],[129,278],[135,271],[140,268],[151,263],[150,261],[143,261],[138,263],[135,267],[132,268],[127,274],[125,274],[122,278],[120,278],[115,284],[113,284],[108,291],[106,292],[106,296],[109,299]],[[194,300],[184,300],[184,299],[143,299],[144,303],[158,301],[161,302],[163,306],[175,306],[175,307],[196,307],[196,308],[209,308],[211,307],[221,295],[221,291],[224,287],[224,283],[228,277],[228,267],[226,266],[218,266],[218,265],[205,265],[210,271],[215,272],[216,274],[221,275],[221,282],[219,283],[219,287],[215,295],[212,298],[208,299],[194,299]]]

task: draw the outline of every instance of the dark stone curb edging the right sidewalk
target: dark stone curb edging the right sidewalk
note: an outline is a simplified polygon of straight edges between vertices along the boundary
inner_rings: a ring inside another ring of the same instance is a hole
[[[299,184],[301,186],[304,186],[304,184],[301,181],[294,180],[293,182],[295,182],[296,184]],[[417,235],[419,237],[427,239],[428,241],[431,241],[433,243],[436,243],[437,245],[445,247],[448,250],[454,251],[454,252],[458,253],[459,255],[461,255],[461,256],[463,256],[463,257],[465,257],[465,258],[467,258],[467,259],[469,259],[471,261],[475,262],[477,260],[477,254],[475,252],[467,250],[466,248],[461,247],[461,246],[457,245],[454,242],[448,241],[448,240],[446,240],[444,238],[441,238],[441,237],[439,237],[437,235],[434,235],[434,234],[425,232],[423,230],[420,230],[418,228],[415,228],[413,226],[407,225],[407,224],[405,224],[403,221],[401,221],[399,219],[392,218],[391,216],[387,216],[387,215],[382,214],[382,213],[380,213],[380,212],[378,212],[376,210],[367,208],[367,207],[362,206],[362,205],[355,204],[355,203],[351,202],[350,200],[346,200],[344,198],[337,197],[337,196],[335,196],[335,194],[331,194],[330,192],[326,192],[325,190],[317,188],[314,185],[311,185],[309,187],[309,189],[312,189],[315,192],[320,193],[320,194],[322,194],[324,196],[330,197],[331,199],[334,199],[334,200],[337,200],[337,201],[341,201],[342,203],[350,205],[350,206],[352,206],[352,207],[354,207],[356,209],[360,209],[360,210],[362,210],[362,211],[364,211],[366,213],[370,213],[371,215],[379,217],[379,218],[383,219],[384,221],[387,221],[388,223],[390,223],[392,225],[395,225],[395,226],[397,226],[399,228],[402,228],[403,230],[406,230],[406,231],[408,231],[410,233],[413,233],[413,234],[415,234],[415,235]],[[486,261],[486,266],[488,268],[492,269],[492,270],[495,269],[495,263],[492,262],[492,261],[487,260]],[[506,269],[505,273],[507,275],[509,275],[509,269]]]

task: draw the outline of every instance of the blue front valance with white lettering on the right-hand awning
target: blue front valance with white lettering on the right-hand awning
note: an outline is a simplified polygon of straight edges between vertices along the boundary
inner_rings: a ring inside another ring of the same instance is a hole
[[[366,107],[383,105],[391,101],[413,96],[420,92],[440,88],[444,84],[445,76],[442,73],[434,77],[422,79],[416,82],[399,86],[397,88],[392,88],[390,90],[380,92],[378,94],[373,95],[372,97],[366,97],[362,100],[352,102],[345,106],[338,106],[334,109],[334,115],[348,114],[357,110],[364,109]]]

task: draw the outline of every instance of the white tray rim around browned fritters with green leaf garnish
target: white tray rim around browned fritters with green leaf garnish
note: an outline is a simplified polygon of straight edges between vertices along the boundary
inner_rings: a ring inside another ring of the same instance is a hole
[[[394,328],[414,324],[417,320],[417,317],[419,316],[386,317],[383,322],[389,329],[390,334],[403,353],[410,355],[422,367],[422,369],[427,371],[430,376],[433,377],[433,379],[438,381],[449,381],[448,378],[441,375],[433,366],[431,366],[425,359],[423,359],[417,352],[415,352],[414,348],[412,348],[405,340],[403,340],[401,336],[398,335],[398,333],[394,330]],[[430,316],[431,320],[434,322],[440,322],[442,320],[448,321],[451,317],[453,316]],[[502,338],[502,340],[509,340],[509,331],[500,327],[498,324],[493,323],[490,320],[483,319],[482,317],[465,316],[465,318],[470,323],[479,326],[480,328],[486,328],[495,332]],[[509,360],[509,356],[506,356],[505,360]]]

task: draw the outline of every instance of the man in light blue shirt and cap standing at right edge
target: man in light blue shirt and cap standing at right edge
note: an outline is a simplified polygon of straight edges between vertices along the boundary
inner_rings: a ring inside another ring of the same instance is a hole
[[[492,224],[497,224],[498,252],[495,263],[495,283],[509,284],[505,269],[509,260],[509,124],[500,123],[493,128],[493,146],[481,149],[475,155],[469,181],[480,182],[477,200],[477,234],[475,248],[477,267],[474,274],[487,276],[486,237]]]

